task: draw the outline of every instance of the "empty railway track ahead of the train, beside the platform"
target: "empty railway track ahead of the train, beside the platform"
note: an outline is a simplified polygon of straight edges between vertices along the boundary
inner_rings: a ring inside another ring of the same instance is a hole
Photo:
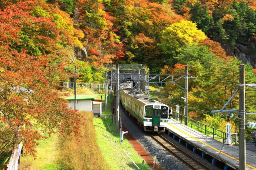
[[[178,159],[180,159],[182,162],[187,164],[190,168],[193,170],[210,170],[207,166],[178,148],[174,143],[170,142],[168,139],[160,135],[159,133],[154,133],[149,135],[162,147],[170,151],[172,154],[174,154]]]

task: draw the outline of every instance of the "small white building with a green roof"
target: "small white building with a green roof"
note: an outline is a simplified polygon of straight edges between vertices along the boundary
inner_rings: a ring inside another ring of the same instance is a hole
[[[102,101],[97,99],[97,94],[90,95],[76,95],[76,109],[84,111],[92,111],[94,115],[101,117]],[[75,96],[70,96],[65,100],[68,101],[68,107],[74,109]]]

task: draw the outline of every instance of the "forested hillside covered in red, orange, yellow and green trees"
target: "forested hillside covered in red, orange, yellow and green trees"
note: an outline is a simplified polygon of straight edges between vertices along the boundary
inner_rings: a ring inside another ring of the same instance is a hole
[[[0,154],[26,139],[35,155],[51,133],[80,134],[80,113],[62,99],[74,66],[78,82],[103,83],[103,64],[139,63],[165,74],[189,65],[189,76],[198,75],[188,85],[190,106],[220,109],[237,89],[240,60],[248,61],[246,83],[256,82],[255,7],[249,0],[1,1]],[[163,92],[184,103],[181,89]],[[246,90],[246,98],[246,110],[256,112],[255,92]],[[238,98],[228,107],[237,108]]]

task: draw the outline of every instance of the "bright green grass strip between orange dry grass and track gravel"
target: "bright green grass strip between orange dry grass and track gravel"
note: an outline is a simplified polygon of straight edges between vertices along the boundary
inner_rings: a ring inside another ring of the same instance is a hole
[[[102,108],[104,109],[104,106]],[[133,149],[128,140],[124,139],[122,145],[119,144],[119,133],[115,132],[116,126],[111,123],[111,115],[110,102],[108,102],[108,111],[103,111],[102,118],[94,118],[93,121],[97,142],[105,162],[113,170],[138,169],[123,151],[124,149],[140,169],[149,170],[150,167],[147,164],[142,164],[142,158]]]

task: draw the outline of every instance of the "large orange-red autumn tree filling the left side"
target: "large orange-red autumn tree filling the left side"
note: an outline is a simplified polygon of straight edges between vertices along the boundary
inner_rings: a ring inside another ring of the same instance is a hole
[[[60,11],[33,14],[41,3],[48,7],[43,1],[21,1],[0,11],[0,124],[10,137],[1,135],[0,153],[22,141],[34,155],[37,141],[51,133],[79,133],[80,115],[60,98],[68,59],[59,51],[80,42],[75,32],[58,25],[65,16]]]

